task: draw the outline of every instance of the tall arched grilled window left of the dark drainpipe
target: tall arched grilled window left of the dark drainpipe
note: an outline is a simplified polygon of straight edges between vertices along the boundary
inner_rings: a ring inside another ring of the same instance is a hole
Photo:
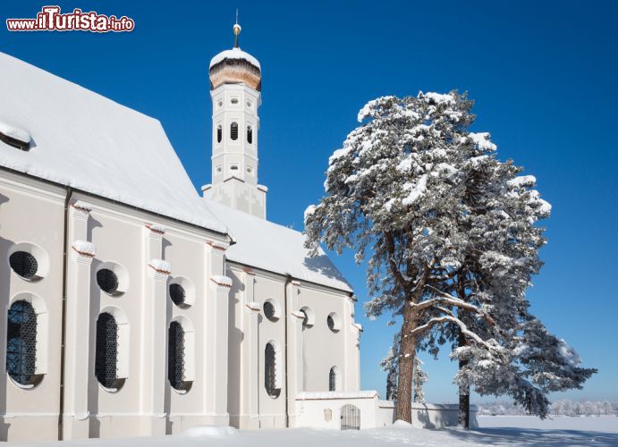
[[[6,372],[18,384],[32,384],[37,363],[37,314],[28,301],[15,301],[6,325]]]

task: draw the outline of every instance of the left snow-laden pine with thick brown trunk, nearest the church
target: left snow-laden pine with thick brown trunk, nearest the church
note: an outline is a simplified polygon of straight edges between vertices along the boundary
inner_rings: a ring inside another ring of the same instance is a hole
[[[455,166],[484,156],[484,135],[470,134],[472,102],[456,91],[380,97],[359,114],[368,119],[330,157],[326,197],[308,207],[305,228],[314,250],[356,250],[368,260],[368,316],[402,316],[397,414],[411,422],[412,374],[419,339],[437,324],[454,323],[475,343],[502,348],[467,330],[451,309],[489,322],[487,309],[436,292],[442,273],[461,265],[465,240],[455,232],[465,178]],[[471,135],[471,137],[470,137]],[[470,144],[469,139],[475,144]],[[464,150],[465,149],[465,150]]]

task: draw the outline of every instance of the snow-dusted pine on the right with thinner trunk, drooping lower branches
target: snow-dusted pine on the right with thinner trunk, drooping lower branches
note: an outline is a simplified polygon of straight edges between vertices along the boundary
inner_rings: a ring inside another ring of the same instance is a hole
[[[491,143],[487,138],[483,144]],[[493,337],[505,348],[493,360],[508,360],[510,364],[506,367],[504,363],[504,371],[512,374],[501,376],[510,385],[503,392],[511,394],[529,413],[546,417],[548,392],[580,388],[596,372],[579,367],[580,358],[574,350],[529,314],[526,290],[532,275],[542,266],[538,250],[546,241],[543,228],[536,223],[551,208],[534,189],[536,179],[518,176],[521,168],[511,161],[499,161],[494,150],[464,164],[462,170],[468,179],[463,195],[468,212],[461,215],[458,229],[466,233],[468,243],[464,262],[453,269],[452,291],[470,304],[487,308],[495,324],[488,327],[487,320],[466,319],[461,312],[460,317],[475,333],[486,339]],[[441,289],[447,287],[443,285]],[[481,358],[485,374],[466,380],[470,378],[465,374],[470,362],[468,354],[484,349],[477,345],[466,354],[466,345],[466,339],[459,337],[459,348],[454,350],[453,357],[459,359],[461,367],[460,424],[468,427],[470,384],[487,390],[487,383],[494,382],[487,358],[495,356],[486,352]]]

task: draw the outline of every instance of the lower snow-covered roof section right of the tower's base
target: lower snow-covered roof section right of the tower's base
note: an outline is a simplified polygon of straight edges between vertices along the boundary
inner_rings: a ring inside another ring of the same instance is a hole
[[[309,257],[309,250],[304,247],[305,235],[301,232],[212,200],[206,203],[227,224],[230,236],[237,241],[225,252],[228,259],[277,274],[290,274],[309,283],[352,291],[321,249],[316,257]]]

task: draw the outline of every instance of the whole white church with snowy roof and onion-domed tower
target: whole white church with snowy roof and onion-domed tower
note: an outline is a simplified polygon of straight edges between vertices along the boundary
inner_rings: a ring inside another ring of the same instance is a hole
[[[0,54],[0,440],[392,423],[350,285],[267,221],[234,31],[203,197],[156,119]]]

